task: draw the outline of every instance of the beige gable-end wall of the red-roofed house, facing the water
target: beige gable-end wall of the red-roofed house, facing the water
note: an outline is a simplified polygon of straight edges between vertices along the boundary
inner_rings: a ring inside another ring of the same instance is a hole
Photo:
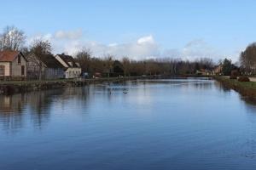
[[[24,70],[24,75],[21,75],[21,66],[24,65],[25,70]],[[11,76],[12,77],[26,77],[26,59],[23,57],[20,57],[20,64],[18,63],[18,57],[15,58],[12,62],[11,66]]]

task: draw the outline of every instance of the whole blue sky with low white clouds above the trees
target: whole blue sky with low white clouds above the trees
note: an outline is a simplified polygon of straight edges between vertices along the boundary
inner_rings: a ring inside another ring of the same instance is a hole
[[[55,54],[237,60],[256,41],[254,0],[0,1],[1,29],[49,39]]]

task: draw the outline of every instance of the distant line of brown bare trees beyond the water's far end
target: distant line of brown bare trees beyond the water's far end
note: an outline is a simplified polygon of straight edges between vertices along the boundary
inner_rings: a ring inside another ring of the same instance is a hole
[[[79,61],[82,71],[89,73],[109,71],[116,60],[110,54],[103,58],[94,57],[86,48],[76,54],[76,59]],[[125,76],[195,74],[201,69],[212,70],[214,66],[212,59],[209,58],[195,61],[172,58],[135,60],[125,56],[119,59],[119,62],[123,65]]]

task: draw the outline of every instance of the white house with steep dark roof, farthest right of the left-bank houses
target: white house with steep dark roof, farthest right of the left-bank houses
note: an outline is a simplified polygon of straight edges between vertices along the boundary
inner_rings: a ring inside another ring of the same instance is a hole
[[[63,67],[65,67],[65,78],[76,78],[81,76],[81,67],[75,62],[72,56],[66,54],[57,54],[55,56]]]

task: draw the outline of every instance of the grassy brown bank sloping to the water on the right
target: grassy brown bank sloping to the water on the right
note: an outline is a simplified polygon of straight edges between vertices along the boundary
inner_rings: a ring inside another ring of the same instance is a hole
[[[214,77],[218,82],[221,82],[225,87],[232,88],[243,96],[256,98],[256,82],[238,82],[231,80],[229,77]]]

